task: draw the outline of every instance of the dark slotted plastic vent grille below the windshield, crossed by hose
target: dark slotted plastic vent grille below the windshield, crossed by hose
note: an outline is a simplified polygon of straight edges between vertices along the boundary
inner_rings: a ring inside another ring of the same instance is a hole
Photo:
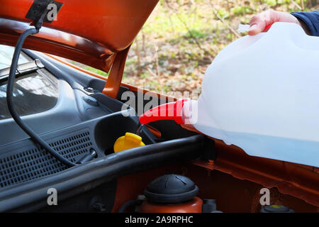
[[[65,135],[49,145],[72,162],[77,162],[92,147],[89,131]],[[42,148],[34,146],[28,150],[4,157],[0,156],[0,188],[9,187],[31,179],[52,175],[66,170],[67,166],[52,157]]]

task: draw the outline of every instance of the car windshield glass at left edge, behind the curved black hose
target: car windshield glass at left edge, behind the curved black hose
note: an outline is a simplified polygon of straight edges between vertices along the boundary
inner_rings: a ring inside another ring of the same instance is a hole
[[[0,45],[0,70],[10,67],[14,47]],[[21,52],[18,64],[33,59]],[[6,80],[0,82],[0,120],[10,118],[6,105]],[[17,77],[13,88],[13,101],[19,115],[37,114],[52,109],[57,104],[59,90],[57,78],[45,69]]]

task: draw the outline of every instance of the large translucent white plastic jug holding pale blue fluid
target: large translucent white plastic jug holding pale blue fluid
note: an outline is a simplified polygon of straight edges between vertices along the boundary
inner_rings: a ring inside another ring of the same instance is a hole
[[[319,167],[319,38],[274,23],[208,67],[191,123],[249,155]],[[197,115],[196,115],[197,114]]]

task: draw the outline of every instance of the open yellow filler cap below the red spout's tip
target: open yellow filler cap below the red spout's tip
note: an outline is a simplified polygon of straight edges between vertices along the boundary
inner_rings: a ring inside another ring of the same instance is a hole
[[[114,143],[114,152],[117,153],[121,150],[128,150],[130,148],[138,148],[144,146],[142,138],[134,133],[125,133]]]

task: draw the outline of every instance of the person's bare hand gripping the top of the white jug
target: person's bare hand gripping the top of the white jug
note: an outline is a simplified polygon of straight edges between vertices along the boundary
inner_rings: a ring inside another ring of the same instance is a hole
[[[301,26],[307,34],[309,33],[307,26],[302,21],[298,21],[295,16],[292,16],[290,13],[269,9],[250,19],[250,30],[248,31],[248,35],[257,35],[264,31],[267,26],[275,22],[296,23]]]

